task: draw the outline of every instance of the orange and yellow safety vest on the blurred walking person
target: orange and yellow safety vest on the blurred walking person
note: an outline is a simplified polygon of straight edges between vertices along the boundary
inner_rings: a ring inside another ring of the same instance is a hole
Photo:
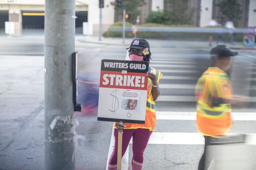
[[[232,125],[231,105],[212,106],[212,97],[231,97],[230,81],[226,72],[209,67],[197,81],[197,127],[205,136],[218,137]]]

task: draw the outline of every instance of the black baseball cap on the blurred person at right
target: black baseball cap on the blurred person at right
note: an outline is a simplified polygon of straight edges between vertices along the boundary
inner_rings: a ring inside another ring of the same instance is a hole
[[[229,46],[225,45],[217,45],[216,47],[211,49],[210,56],[219,56],[219,57],[231,57],[236,56],[237,52],[232,52]]]

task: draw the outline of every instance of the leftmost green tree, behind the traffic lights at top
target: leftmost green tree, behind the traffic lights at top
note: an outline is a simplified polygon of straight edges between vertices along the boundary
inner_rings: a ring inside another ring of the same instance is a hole
[[[123,8],[118,8],[116,6],[117,0],[111,2],[110,4],[114,6],[117,17],[123,16]],[[137,16],[141,14],[141,11],[137,7],[145,5],[144,0],[123,0],[123,5],[126,6],[126,13],[129,14],[128,22],[135,23]]]

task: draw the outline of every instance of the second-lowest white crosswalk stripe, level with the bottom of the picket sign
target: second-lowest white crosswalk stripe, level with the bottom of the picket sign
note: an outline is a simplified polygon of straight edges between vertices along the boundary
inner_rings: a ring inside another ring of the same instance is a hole
[[[232,112],[234,121],[256,121],[255,112]],[[157,120],[196,120],[196,111],[194,112],[169,112],[156,111]]]

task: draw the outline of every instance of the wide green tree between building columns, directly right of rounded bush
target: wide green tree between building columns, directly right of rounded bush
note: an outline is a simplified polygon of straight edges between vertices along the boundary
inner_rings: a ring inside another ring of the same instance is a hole
[[[189,0],[164,0],[171,7],[170,10],[164,10],[164,15],[169,19],[168,25],[174,24],[192,24],[192,17],[195,9],[189,9]]]

